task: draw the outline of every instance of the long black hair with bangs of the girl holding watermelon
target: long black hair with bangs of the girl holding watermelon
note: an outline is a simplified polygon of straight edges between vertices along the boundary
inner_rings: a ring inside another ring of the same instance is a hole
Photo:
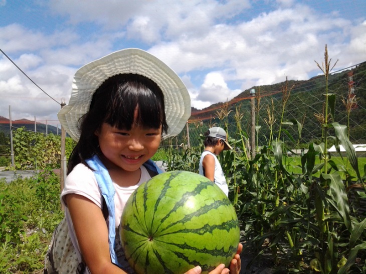
[[[138,106],[137,120],[134,112]],[[105,80],[93,94],[89,111],[79,120],[80,138],[72,151],[67,173],[80,162],[100,153],[95,132],[103,123],[130,130],[134,122],[166,133],[164,95],[151,79],[133,73],[117,74]]]

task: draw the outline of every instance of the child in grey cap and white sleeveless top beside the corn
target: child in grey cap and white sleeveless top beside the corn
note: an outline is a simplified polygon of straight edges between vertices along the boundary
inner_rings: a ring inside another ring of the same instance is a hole
[[[219,159],[216,156],[223,150],[232,149],[231,145],[227,141],[228,136],[226,135],[225,130],[221,127],[210,128],[205,133],[205,136],[205,150],[201,154],[199,173],[215,182],[228,196],[228,183],[226,182],[224,171]]]

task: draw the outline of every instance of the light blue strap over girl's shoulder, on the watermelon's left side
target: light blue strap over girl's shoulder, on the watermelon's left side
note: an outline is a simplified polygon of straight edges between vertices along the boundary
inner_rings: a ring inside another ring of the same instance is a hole
[[[109,213],[109,223],[108,223],[108,242],[109,242],[109,252],[111,255],[111,260],[114,264],[118,264],[116,254],[114,252],[114,240],[116,237],[115,228],[115,211],[114,211],[114,194],[115,189],[112,183],[112,179],[109,175],[108,169],[104,166],[102,161],[97,155],[86,160],[86,163],[93,168],[95,178],[98,182],[98,186],[102,193],[102,196],[107,204]]]

